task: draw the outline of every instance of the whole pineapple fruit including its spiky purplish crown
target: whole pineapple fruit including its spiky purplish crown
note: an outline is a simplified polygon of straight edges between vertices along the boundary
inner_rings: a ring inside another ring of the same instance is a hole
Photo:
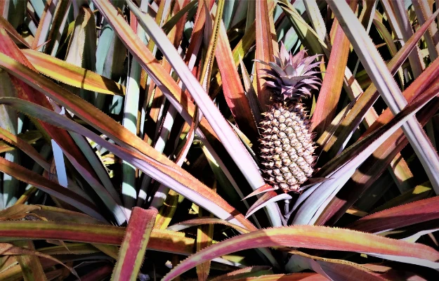
[[[268,112],[261,121],[261,164],[267,183],[284,192],[299,192],[299,187],[313,174],[315,162],[313,133],[301,98],[317,89],[319,73],[313,69],[318,55],[305,58],[302,50],[291,55],[282,44],[280,58],[266,69],[266,86],[272,91]]]

